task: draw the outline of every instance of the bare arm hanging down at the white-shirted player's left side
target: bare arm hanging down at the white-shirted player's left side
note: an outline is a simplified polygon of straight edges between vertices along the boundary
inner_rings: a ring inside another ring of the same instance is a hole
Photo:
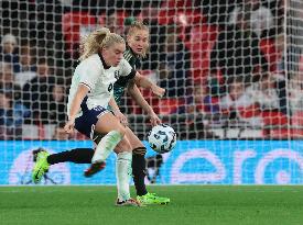
[[[77,92],[72,101],[71,110],[68,112],[68,121],[64,126],[65,132],[68,134],[74,131],[76,115],[79,112],[80,104],[84,98],[87,95],[88,91],[89,91],[89,88],[86,85],[80,83],[78,86]]]

